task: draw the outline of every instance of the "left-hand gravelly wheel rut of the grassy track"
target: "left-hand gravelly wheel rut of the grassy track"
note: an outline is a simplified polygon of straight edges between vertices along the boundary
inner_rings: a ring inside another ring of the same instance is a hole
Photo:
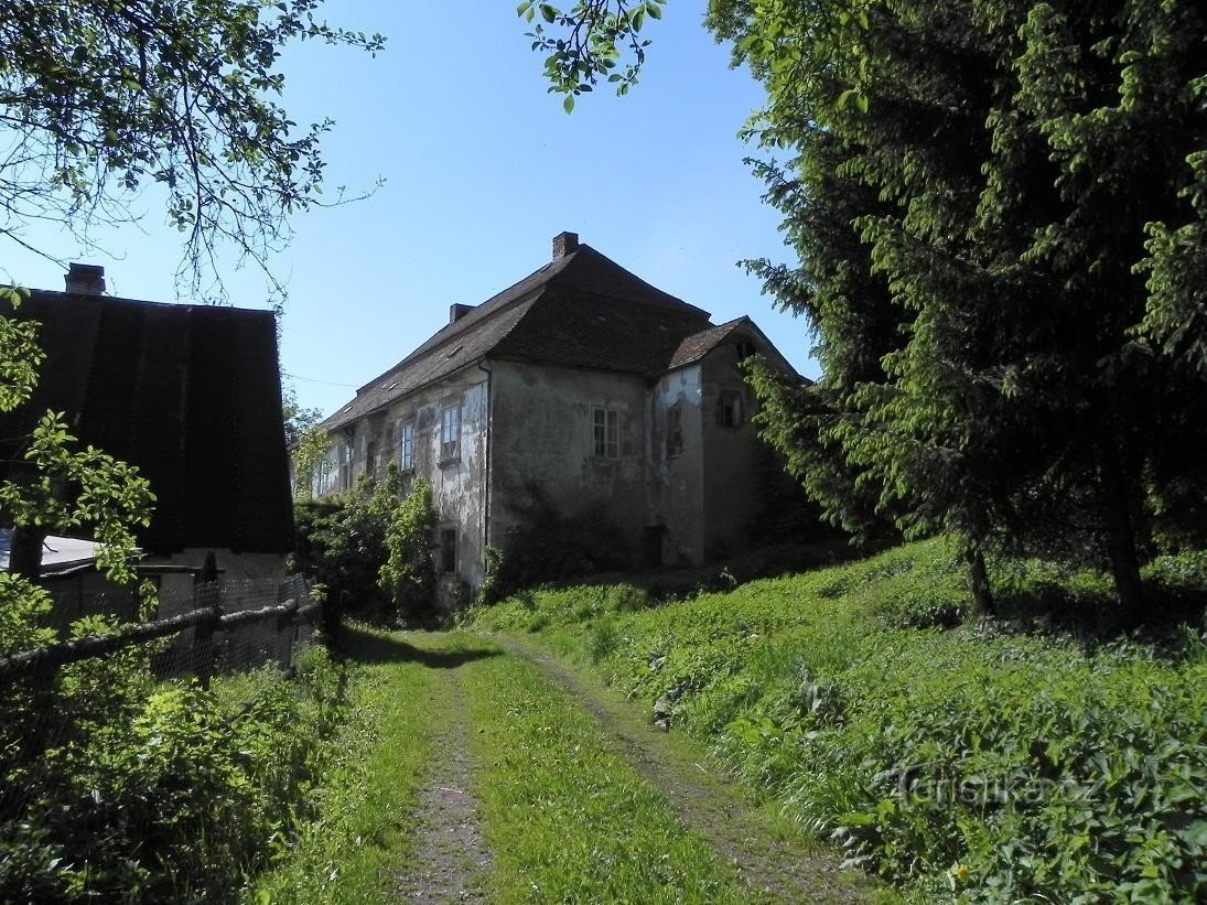
[[[453,719],[433,745],[432,773],[414,817],[414,864],[400,878],[398,893],[404,901],[485,901],[491,858],[472,792],[465,688],[459,668],[444,670],[443,675],[449,683],[444,706]]]

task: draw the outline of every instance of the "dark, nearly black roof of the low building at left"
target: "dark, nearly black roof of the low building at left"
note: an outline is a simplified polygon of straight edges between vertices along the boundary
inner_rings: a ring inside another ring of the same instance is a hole
[[[46,362],[33,399],[0,416],[0,457],[64,411],[82,445],[151,481],[146,551],[293,548],[272,313],[34,291],[16,316],[41,322]]]

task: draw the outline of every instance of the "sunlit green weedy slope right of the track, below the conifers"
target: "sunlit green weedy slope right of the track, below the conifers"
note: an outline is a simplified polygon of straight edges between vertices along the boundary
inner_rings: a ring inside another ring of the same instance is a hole
[[[1092,576],[1038,567],[1009,589],[1061,582],[1074,603],[1102,594]],[[921,895],[1207,893],[1201,632],[1088,656],[1055,638],[906,627],[958,619],[964,596],[932,541],[658,608],[632,589],[540,591],[476,626],[531,634],[657,701],[742,781]]]

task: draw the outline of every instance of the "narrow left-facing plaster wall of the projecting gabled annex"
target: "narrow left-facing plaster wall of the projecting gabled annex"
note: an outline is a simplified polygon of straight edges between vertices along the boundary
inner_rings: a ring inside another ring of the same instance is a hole
[[[704,560],[704,443],[700,402],[704,389],[699,366],[671,372],[651,393],[649,524],[665,525],[666,565]],[[678,405],[682,449],[669,446],[669,411]]]

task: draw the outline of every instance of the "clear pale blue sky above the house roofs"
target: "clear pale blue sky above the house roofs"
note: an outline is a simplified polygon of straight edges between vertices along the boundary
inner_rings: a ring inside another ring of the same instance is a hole
[[[717,323],[751,315],[816,376],[804,321],[775,310],[735,265],[791,252],[742,163],[759,152],[736,138],[760,89],[728,68],[700,24],[704,4],[670,0],[647,24],[641,83],[626,98],[585,95],[571,116],[546,92],[514,8],[343,0],[330,21],[381,31],[384,53],[301,46],[284,58],[293,118],[337,121],[325,142],[331,189],[386,180],[367,200],[297,216],[292,245],[272,262],[290,292],[281,366],[299,402],[331,413],[438,329],[450,304],[483,302],[543,265],[561,230]],[[153,195],[138,204],[138,227],[97,234],[104,252],[52,232],[25,238],[104,264],[113,294],[174,300],[180,235]],[[0,276],[62,288],[51,262],[12,246],[0,262]],[[223,278],[234,304],[266,305],[258,272],[232,264]]]

